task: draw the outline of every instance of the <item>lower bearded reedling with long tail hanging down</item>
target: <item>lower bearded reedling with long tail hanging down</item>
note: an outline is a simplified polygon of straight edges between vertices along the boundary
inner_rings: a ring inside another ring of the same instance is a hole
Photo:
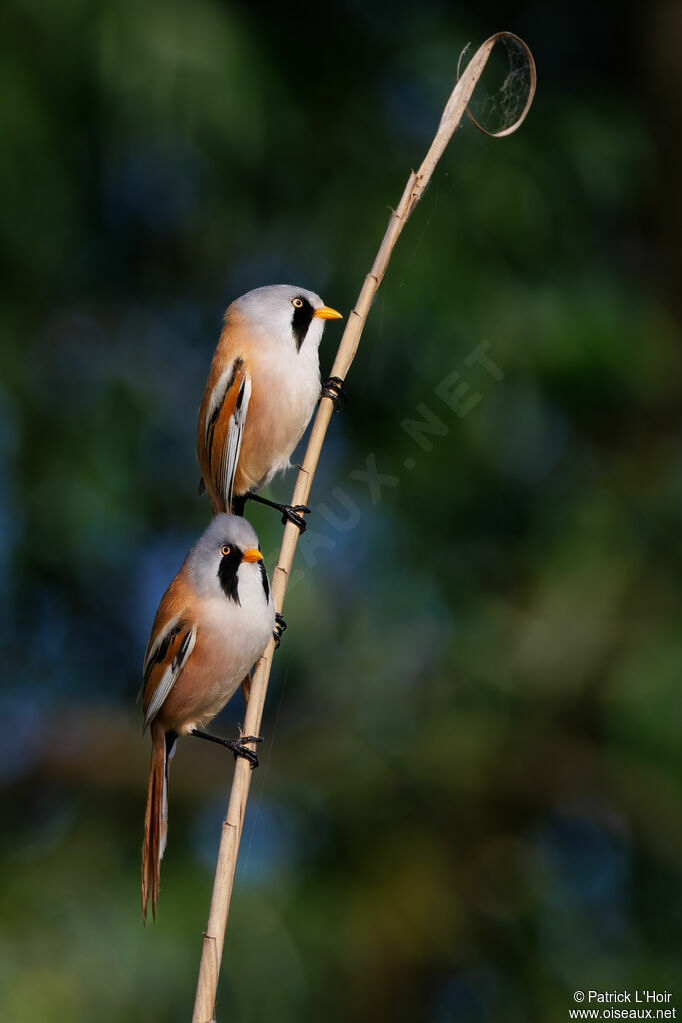
[[[222,743],[255,766],[245,744],[201,729],[219,713],[265,650],[275,610],[253,527],[219,515],[187,554],[156,612],[144,659],[144,729],[151,764],[142,845],[142,919],[155,916],[168,821],[168,767],[180,736]]]

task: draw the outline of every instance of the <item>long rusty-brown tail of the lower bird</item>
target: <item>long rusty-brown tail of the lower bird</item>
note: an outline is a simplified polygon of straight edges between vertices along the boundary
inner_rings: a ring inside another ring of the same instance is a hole
[[[151,916],[153,920],[156,919],[161,860],[168,830],[168,762],[173,754],[175,740],[174,735],[166,735],[157,721],[152,723],[149,787],[142,842],[142,923],[146,923],[150,898]]]

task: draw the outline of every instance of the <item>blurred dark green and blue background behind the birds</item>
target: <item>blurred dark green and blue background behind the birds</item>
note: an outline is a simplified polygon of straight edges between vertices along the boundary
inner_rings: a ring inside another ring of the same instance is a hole
[[[499,29],[538,95],[509,139],[456,134],[333,417],[218,1018],[546,1023],[576,988],[682,1010],[679,6],[0,17],[0,1019],[189,1018],[232,759],[181,744],[143,929],[135,697],[209,517],[221,315],[277,281],[348,313],[461,48]],[[401,426],[424,406],[429,450]],[[277,517],[252,521],[272,568]]]

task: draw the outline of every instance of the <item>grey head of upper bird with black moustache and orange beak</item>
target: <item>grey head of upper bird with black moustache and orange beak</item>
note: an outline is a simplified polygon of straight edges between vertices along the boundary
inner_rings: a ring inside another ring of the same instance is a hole
[[[263,336],[292,345],[297,352],[304,344],[317,348],[325,319],[340,318],[340,313],[325,306],[315,292],[293,284],[257,287],[233,302],[230,309],[247,319]]]

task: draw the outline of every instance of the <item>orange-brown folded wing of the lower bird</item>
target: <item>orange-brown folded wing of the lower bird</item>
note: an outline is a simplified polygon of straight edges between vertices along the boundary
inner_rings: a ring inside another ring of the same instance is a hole
[[[189,587],[180,572],[158,605],[144,656],[143,730],[163,707],[194,649],[196,623],[189,612],[190,597]]]

